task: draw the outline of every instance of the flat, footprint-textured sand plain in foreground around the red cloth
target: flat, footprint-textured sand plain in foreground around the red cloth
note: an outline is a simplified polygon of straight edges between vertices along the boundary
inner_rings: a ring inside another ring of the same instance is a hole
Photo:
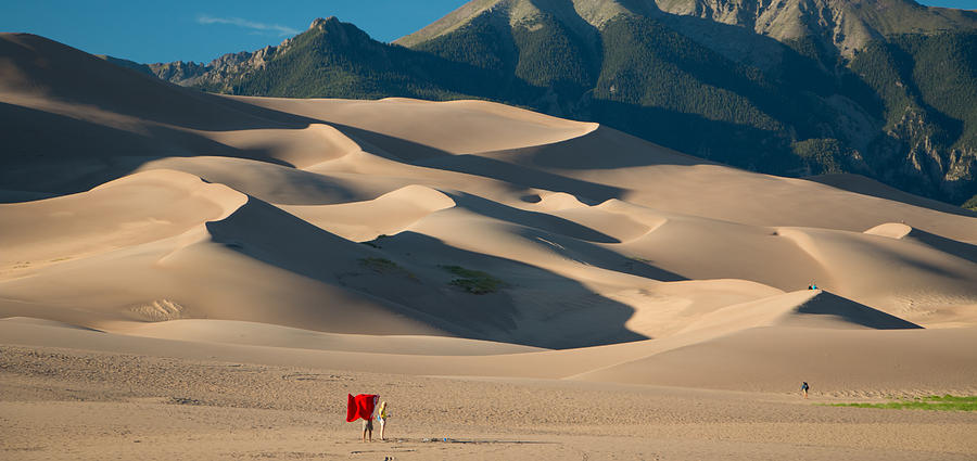
[[[766,394],[0,349],[7,459],[973,459],[969,413]],[[359,440],[344,394],[391,402]],[[864,399],[864,398],[863,398]],[[845,400],[845,399],[842,399]],[[851,398],[847,398],[848,401]],[[861,400],[861,399],[860,399]]]

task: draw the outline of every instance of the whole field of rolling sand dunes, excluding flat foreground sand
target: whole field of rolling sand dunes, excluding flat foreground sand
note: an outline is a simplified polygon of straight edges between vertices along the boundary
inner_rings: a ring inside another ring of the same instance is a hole
[[[488,102],[204,94],[29,35],[0,56],[0,344],[974,392],[970,213]]]

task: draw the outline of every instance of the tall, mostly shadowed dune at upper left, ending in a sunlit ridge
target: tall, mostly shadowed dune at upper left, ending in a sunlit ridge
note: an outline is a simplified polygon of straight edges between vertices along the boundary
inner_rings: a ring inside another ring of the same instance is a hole
[[[29,34],[0,35],[4,189],[80,192],[148,161],[309,166],[359,150],[334,127],[186,89]]]

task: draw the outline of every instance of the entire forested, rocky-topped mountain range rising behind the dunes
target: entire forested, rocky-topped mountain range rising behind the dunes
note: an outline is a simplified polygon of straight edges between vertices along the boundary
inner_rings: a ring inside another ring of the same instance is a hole
[[[316,20],[149,67],[231,94],[495,100],[751,170],[977,193],[977,13],[909,0],[477,0],[392,44]]]

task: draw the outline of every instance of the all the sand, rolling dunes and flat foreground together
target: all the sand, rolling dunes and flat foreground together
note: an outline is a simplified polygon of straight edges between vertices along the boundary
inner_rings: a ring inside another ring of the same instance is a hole
[[[962,208],[22,34],[0,114],[3,458],[977,454],[973,414],[816,405],[977,394]],[[358,443],[347,392],[390,396],[398,441]]]

